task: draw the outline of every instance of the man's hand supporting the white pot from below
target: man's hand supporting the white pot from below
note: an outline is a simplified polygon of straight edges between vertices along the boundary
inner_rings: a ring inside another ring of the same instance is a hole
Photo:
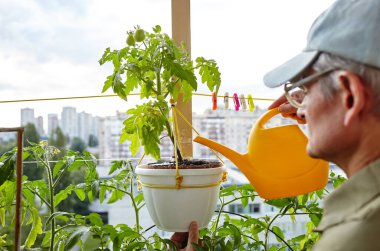
[[[181,251],[195,251],[191,243],[198,244],[198,239],[198,223],[196,221],[190,223],[189,232],[174,233],[170,238],[170,240],[173,241],[177,248]]]

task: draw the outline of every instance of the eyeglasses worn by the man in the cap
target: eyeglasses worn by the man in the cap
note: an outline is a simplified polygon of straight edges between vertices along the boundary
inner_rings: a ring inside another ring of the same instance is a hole
[[[327,70],[317,72],[295,83],[288,82],[284,85],[285,97],[289,103],[297,109],[304,108],[303,99],[307,95],[306,85],[316,81],[318,78],[326,75],[337,68],[329,68]]]

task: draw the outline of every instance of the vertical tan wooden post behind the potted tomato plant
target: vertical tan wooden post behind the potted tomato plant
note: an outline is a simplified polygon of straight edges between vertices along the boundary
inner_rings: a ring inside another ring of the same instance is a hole
[[[172,0],[172,37],[177,45],[185,42],[186,49],[191,55],[190,34],[190,0]],[[178,98],[177,109],[192,123],[192,101],[186,104],[182,95]],[[181,137],[182,155],[184,158],[193,157],[193,137],[191,128],[178,118],[179,135]]]

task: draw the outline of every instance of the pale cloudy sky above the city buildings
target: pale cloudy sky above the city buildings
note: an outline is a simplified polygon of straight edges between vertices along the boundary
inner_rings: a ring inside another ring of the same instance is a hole
[[[276,98],[281,90],[264,87],[263,74],[302,50],[311,23],[332,2],[193,0],[192,57],[218,62],[220,93]],[[171,34],[171,1],[0,0],[0,100],[100,94],[111,69],[99,66],[100,56],[107,47],[121,48],[126,31],[137,24],[147,30],[159,24]],[[211,100],[195,99],[195,111],[211,107]],[[127,110],[134,101],[0,104],[0,127],[19,126],[24,107],[46,120],[63,106],[106,116]]]

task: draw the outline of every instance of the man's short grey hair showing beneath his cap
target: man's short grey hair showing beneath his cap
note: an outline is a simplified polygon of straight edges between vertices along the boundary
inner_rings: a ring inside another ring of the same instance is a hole
[[[331,67],[351,71],[360,76],[365,87],[370,89],[373,94],[375,100],[373,112],[376,116],[380,116],[380,69],[325,52],[321,53],[313,64],[313,69],[316,71],[326,70]],[[327,100],[331,100],[339,88],[337,79],[334,77],[335,74],[336,72],[333,72],[321,79],[321,86],[323,86],[321,90]]]

